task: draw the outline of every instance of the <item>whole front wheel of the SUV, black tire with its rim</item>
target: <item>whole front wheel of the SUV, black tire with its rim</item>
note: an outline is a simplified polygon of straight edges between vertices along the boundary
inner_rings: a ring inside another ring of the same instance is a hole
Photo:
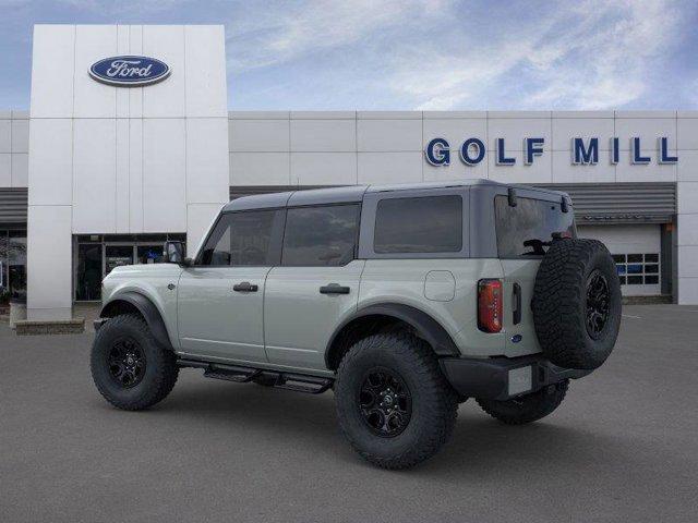
[[[101,326],[89,364],[99,393],[125,411],[164,400],[179,376],[174,353],[155,340],[143,318],[132,314],[116,316]]]

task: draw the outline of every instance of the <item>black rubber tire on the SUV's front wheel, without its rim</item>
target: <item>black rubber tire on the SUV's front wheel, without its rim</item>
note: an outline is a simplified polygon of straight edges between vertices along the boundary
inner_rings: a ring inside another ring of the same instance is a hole
[[[124,337],[134,340],[145,356],[143,377],[131,388],[117,382],[109,370],[111,348]],[[124,411],[140,411],[164,400],[179,376],[174,353],[163,348],[145,320],[133,314],[116,316],[101,326],[95,336],[89,364],[99,393]]]

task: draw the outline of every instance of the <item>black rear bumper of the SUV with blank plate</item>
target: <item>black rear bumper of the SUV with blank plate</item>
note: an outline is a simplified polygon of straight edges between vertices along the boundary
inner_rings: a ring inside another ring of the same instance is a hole
[[[444,357],[440,363],[446,379],[460,396],[489,400],[508,400],[591,373],[558,367],[541,354],[482,360]]]

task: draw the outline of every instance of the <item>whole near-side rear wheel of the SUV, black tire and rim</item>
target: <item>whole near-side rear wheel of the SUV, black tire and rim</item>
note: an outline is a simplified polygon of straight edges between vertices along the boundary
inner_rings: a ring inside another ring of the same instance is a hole
[[[335,382],[344,436],[365,460],[408,469],[434,455],[456,423],[458,397],[426,342],[393,331],[349,349]]]

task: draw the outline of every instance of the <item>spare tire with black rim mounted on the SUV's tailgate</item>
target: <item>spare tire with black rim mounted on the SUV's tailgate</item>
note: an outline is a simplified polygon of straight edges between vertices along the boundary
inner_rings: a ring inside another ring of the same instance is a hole
[[[538,269],[531,306],[538,341],[552,363],[599,367],[621,326],[621,282],[605,245],[597,240],[553,241]]]

